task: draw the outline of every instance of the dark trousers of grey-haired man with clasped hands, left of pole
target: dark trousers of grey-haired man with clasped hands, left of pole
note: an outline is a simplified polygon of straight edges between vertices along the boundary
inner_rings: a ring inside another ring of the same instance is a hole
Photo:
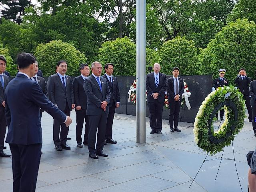
[[[89,117],[89,136],[88,136],[88,149],[90,153],[95,153],[96,151],[101,152],[104,146],[106,124],[108,114],[102,113],[99,115],[88,115]],[[98,130],[98,133],[97,133]],[[97,133],[97,144],[96,143],[96,133]]]

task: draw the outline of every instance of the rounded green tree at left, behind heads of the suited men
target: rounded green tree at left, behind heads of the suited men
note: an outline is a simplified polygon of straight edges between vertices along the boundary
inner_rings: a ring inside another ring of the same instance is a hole
[[[68,64],[67,74],[70,76],[79,75],[79,66],[86,62],[84,53],[61,40],[54,40],[46,44],[38,44],[35,50],[35,56],[38,60],[39,69],[45,76],[55,73],[56,65],[59,60],[65,60]]]

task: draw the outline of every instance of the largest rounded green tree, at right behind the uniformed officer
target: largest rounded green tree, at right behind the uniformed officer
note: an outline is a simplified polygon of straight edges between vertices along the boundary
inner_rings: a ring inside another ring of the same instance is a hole
[[[217,78],[218,70],[224,68],[225,78],[232,84],[239,68],[244,67],[247,75],[255,79],[256,24],[246,19],[228,23],[198,58],[200,74],[214,74]]]

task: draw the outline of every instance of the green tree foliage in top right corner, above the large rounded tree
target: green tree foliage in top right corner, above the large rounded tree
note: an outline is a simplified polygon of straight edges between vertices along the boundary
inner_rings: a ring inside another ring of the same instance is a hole
[[[239,0],[238,4],[228,15],[228,21],[236,21],[237,19],[247,18],[249,21],[256,22],[256,3],[255,0]]]

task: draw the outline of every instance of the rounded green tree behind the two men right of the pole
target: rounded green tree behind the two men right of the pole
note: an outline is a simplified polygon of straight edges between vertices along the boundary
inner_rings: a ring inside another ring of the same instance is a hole
[[[172,74],[172,68],[178,67],[180,75],[198,74],[198,49],[195,47],[194,41],[177,36],[165,42],[159,52],[163,73]]]

